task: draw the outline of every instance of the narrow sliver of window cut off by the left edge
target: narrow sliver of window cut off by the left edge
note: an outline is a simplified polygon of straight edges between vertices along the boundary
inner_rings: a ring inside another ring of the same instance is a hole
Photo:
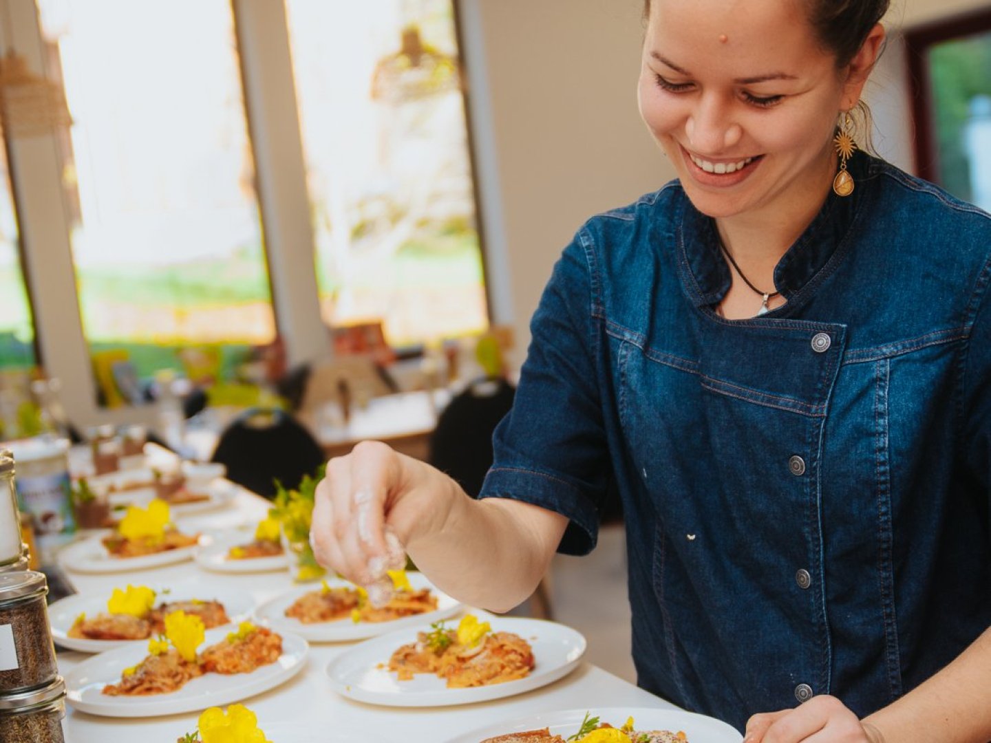
[[[0,370],[24,370],[37,363],[35,330],[21,272],[20,236],[10,183],[7,153],[0,141]]]

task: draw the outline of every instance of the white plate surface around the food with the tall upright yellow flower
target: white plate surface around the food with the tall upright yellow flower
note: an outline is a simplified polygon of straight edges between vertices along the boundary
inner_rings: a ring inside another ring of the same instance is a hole
[[[205,648],[224,638],[229,630],[211,629],[206,633]],[[155,717],[222,706],[249,696],[275,689],[306,665],[309,646],[301,637],[282,634],[282,655],[275,663],[251,674],[205,674],[177,691],[152,696],[109,696],[107,684],[120,681],[121,671],[141,663],[148,655],[146,647],[128,645],[109,650],[83,661],[65,674],[66,700],[81,712],[108,717]]]

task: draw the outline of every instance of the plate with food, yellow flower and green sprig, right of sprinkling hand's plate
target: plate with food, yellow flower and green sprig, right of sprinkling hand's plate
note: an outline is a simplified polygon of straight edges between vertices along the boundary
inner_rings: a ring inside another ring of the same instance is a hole
[[[366,640],[327,667],[334,690],[389,706],[468,704],[538,689],[585,654],[578,631],[515,617],[420,625]]]

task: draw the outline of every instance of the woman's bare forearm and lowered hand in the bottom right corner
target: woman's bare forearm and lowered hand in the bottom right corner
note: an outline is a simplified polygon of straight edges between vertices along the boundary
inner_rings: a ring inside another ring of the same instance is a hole
[[[744,743],[987,743],[991,740],[991,629],[933,678],[862,721],[834,696],[755,714]]]

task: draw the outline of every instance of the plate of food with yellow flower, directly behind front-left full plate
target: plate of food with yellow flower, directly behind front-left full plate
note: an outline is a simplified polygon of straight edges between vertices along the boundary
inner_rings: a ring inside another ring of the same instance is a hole
[[[163,634],[165,615],[173,611],[199,616],[204,627],[212,629],[248,618],[253,608],[248,593],[231,588],[127,584],[114,588],[109,598],[79,594],[62,598],[49,607],[49,616],[52,636],[60,646],[100,653]]]

